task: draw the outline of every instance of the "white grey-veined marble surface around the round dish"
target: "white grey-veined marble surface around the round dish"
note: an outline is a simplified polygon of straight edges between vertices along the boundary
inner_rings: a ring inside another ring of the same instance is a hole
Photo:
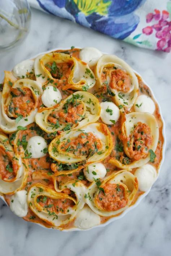
[[[0,200],[0,256],[162,256],[171,250],[171,55],[136,48],[70,21],[32,9],[24,43],[0,53],[3,70],[55,47],[93,46],[123,58],[152,87],[166,122],[167,147],[161,174],[140,205],[106,227],[85,232],[48,230],[15,216]]]

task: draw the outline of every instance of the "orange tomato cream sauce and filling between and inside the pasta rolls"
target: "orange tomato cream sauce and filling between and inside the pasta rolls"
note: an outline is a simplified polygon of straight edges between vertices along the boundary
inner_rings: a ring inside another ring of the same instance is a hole
[[[70,50],[58,50],[55,52],[63,52],[69,54],[70,56],[79,58],[80,49],[70,49]],[[67,63],[54,63],[48,62],[45,65],[45,68],[51,73],[54,79],[54,86],[56,86],[62,95],[62,99],[65,99],[69,95],[71,95],[74,90],[67,88],[67,79],[73,68],[73,62]],[[92,70],[95,71],[95,66],[92,67]],[[29,75],[29,74],[27,74]],[[35,80],[35,76],[30,74],[30,79]],[[131,82],[129,75],[115,67],[115,66],[105,66],[102,72],[102,82],[104,82],[101,89],[97,88],[95,85],[92,89],[88,92],[92,93],[97,97],[99,102],[104,101],[113,101],[113,94],[110,91],[109,86],[105,83],[106,80],[110,78],[110,87],[114,88],[117,91],[128,92],[130,90]],[[153,115],[155,116],[158,126],[159,126],[159,140],[157,144],[157,148],[155,150],[155,159],[154,162],[149,162],[153,165],[157,172],[159,170],[159,166],[162,160],[162,148],[163,148],[163,122],[161,119],[161,115],[159,113],[158,104],[155,102],[152,93],[148,86],[144,84],[141,77],[137,75],[137,79],[139,81],[139,95],[145,94],[149,96],[155,103],[155,112]],[[48,86],[49,81],[45,84],[45,87]],[[63,87],[63,86],[66,86]],[[65,90],[64,90],[65,88]],[[30,89],[23,88],[23,90],[11,89],[10,94],[12,96],[12,101],[10,104],[10,111],[11,117],[17,117],[18,115],[22,115],[26,117],[27,114],[34,108],[34,98]],[[65,107],[60,111],[53,111],[49,117],[48,121],[53,125],[59,123],[70,123],[71,126],[76,121],[78,121],[82,114],[84,113],[83,104],[79,102],[79,104],[69,103],[65,105]],[[56,105],[58,106],[58,104]],[[39,104],[38,104],[39,111],[44,108],[41,97],[39,97]],[[65,108],[67,108],[67,112],[65,113]],[[130,110],[126,110],[125,113],[134,112],[134,108],[132,107]],[[113,173],[117,173],[119,168],[114,166],[113,164],[109,163],[109,160],[114,158],[122,162],[122,164],[127,165],[130,164],[133,160],[139,160],[145,158],[148,154],[148,149],[153,142],[152,135],[150,133],[150,128],[145,125],[144,123],[138,123],[135,127],[133,134],[130,137],[125,138],[122,134],[122,123],[125,121],[124,113],[121,114],[119,120],[114,125],[108,125],[108,129],[111,134],[111,140],[113,142],[113,149],[108,157],[106,157],[102,164],[104,164],[106,168],[106,177]],[[97,122],[103,123],[102,120],[99,118]],[[100,131],[105,135],[108,134],[108,130],[105,128],[106,126],[101,126]],[[36,123],[31,123],[26,127],[25,130],[19,130],[16,134],[10,135],[10,144],[17,144],[17,151],[22,157],[22,162],[25,164],[27,168],[27,178],[26,182],[24,183],[22,189],[29,192],[29,189],[32,185],[36,183],[41,183],[48,188],[54,190],[54,187],[57,186],[59,189],[61,188],[62,184],[73,182],[73,186],[75,186],[76,182],[81,182],[87,188],[91,186],[91,182],[89,182],[83,172],[84,165],[87,164],[86,162],[81,162],[80,165],[72,164],[72,163],[59,163],[53,160],[48,153],[48,149],[45,153],[45,156],[37,159],[32,159],[28,152],[27,152],[27,143],[28,140],[32,136],[42,136],[46,142],[47,147],[49,146],[50,142],[58,135],[58,133],[46,134],[43,130],[41,130]],[[15,142],[14,142],[15,139]],[[123,141],[126,140],[127,143],[132,144],[133,146],[129,148],[128,153],[129,156],[126,155],[124,152]],[[133,148],[134,147],[134,148]],[[75,138],[69,138],[67,141],[64,141],[58,145],[58,150],[61,152],[67,152],[71,156],[82,157],[88,154],[94,154],[95,152],[100,151],[102,148],[102,142],[98,139],[93,133],[80,133],[79,136]],[[135,150],[136,149],[136,150]],[[12,159],[12,153],[6,152],[2,147],[0,147],[0,178],[5,179],[13,179],[17,173],[18,166],[15,160]],[[74,170],[74,172],[73,172]],[[131,170],[131,173],[135,173],[136,168]],[[67,174],[65,174],[67,171]],[[62,174],[60,173],[62,172]],[[59,213],[68,213],[69,208],[74,207],[76,201],[75,193],[69,189],[65,188],[61,194],[65,194],[73,198],[73,200],[65,198],[65,199],[52,199],[45,196],[38,197],[38,204],[40,207],[44,209],[48,209],[51,213],[54,212],[56,215]],[[98,208],[103,211],[116,211],[118,209],[124,208],[128,203],[130,191],[125,189],[125,186],[122,184],[111,184],[109,182],[102,184],[100,190],[95,196],[96,205]],[[142,191],[137,191],[131,205],[135,204],[139,197],[144,194]],[[4,198],[8,205],[10,204],[10,195],[4,195]],[[115,216],[119,216],[123,212]],[[103,217],[101,216],[101,224],[108,221],[110,217]],[[23,217],[26,221],[32,221],[35,223],[39,223],[45,227],[52,227],[54,228],[50,222],[41,220],[36,214],[34,214],[31,209],[29,208],[27,216]],[[70,221],[65,225],[61,225],[60,229],[71,229],[74,227],[74,220]]]

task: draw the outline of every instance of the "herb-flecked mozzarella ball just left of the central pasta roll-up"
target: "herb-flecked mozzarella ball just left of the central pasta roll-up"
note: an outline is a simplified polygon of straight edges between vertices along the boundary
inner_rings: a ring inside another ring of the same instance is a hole
[[[34,136],[28,140],[27,150],[31,153],[31,158],[39,158],[46,155],[43,149],[47,148],[46,141],[41,136]]]

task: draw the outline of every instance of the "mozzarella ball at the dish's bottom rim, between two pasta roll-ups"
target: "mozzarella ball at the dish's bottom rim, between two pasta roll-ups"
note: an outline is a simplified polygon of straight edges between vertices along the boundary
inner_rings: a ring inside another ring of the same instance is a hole
[[[81,209],[75,219],[74,226],[79,229],[89,229],[100,224],[100,216],[94,213],[88,206]]]

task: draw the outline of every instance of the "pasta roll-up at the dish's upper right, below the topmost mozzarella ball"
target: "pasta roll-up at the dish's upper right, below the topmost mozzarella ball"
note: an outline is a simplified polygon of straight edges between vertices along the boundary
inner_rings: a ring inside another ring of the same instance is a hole
[[[139,83],[125,61],[115,55],[103,55],[97,62],[96,77],[98,87],[108,87],[120,108],[132,107],[138,96]]]

